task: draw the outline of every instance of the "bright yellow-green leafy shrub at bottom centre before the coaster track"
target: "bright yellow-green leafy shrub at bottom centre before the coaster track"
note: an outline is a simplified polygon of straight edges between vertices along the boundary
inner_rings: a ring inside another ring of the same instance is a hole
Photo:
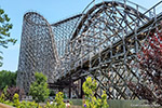
[[[96,98],[95,91],[97,89],[96,80],[92,80],[91,77],[87,77],[86,81],[83,83],[83,91],[85,94],[85,103],[83,107],[85,108],[108,108],[107,104],[107,94],[104,91],[102,98]]]

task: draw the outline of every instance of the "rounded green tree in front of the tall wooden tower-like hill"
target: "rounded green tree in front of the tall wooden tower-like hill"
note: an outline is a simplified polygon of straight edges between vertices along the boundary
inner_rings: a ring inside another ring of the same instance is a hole
[[[37,102],[44,102],[50,94],[50,90],[48,89],[48,78],[41,73],[35,73],[36,81],[30,85],[29,95]]]

